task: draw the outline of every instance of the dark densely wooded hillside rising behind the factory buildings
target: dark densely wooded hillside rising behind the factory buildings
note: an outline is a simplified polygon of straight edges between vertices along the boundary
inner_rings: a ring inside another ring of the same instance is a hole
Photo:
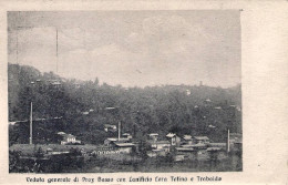
[[[214,142],[225,142],[227,129],[241,133],[240,84],[229,89],[123,88],[100,84],[97,79],[68,80],[27,65],[9,64],[8,70],[9,121],[22,121],[9,125],[10,145],[29,143],[31,102],[35,143],[56,143],[56,133],[62,131],[84,143],[102,144],[106,137],[117,134],[105,132],[104,124],[119,122],[122,133],[131,133],[135,140],[143,140],[152,132],[164,138],[173,132],[181,136],[207,135]]]

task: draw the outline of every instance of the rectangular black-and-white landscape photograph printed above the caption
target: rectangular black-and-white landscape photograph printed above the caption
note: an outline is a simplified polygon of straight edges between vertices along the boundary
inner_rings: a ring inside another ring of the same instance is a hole
[[[9,173],[243,172],[240,13],[8,11]]]

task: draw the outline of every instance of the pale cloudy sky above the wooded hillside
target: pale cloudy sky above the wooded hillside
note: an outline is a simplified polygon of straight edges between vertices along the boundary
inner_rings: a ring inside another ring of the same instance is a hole
[[[240,12],[8,12],[8,61],[110,85],[229,88],[240,83]]]

